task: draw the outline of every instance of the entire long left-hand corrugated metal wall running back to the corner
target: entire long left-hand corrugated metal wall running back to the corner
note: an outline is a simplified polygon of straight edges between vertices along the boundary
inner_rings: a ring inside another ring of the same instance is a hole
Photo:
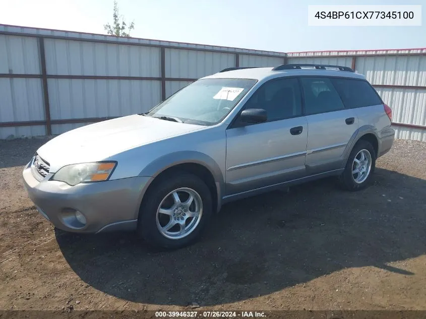
[[[52,134],[88,124],[64,121],[148,111],[162,96],[235,67],[236,54],[241,66],[274,66],[285,57],[282,52],[0,25],[0,139],[46,134],[44,124],[1,125],[46,120],[39,37]]]

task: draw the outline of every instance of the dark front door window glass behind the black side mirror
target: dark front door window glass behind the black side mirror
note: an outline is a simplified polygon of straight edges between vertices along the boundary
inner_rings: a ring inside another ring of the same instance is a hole
[[[297,79],[266,82],[253,93],[245,108],[266,110],[268,122],[301,115],[300,89]]]

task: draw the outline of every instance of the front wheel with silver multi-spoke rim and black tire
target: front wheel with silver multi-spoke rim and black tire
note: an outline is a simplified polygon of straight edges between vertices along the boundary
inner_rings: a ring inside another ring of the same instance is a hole
[[[209,188],[198,176],[187,172],[160,177],[154,183],[139,212],[139,235],[149,244],[167,249],[194,243],[212,215]],[[188,205],[191,195],[193,200]]]

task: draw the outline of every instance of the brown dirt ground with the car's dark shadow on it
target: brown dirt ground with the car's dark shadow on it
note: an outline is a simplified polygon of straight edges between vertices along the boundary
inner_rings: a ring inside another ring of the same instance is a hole
[[[158,251],[44,220],[21,172],[45,142],[0,141],[0,309],[426,310],[426,143],[395,141],[361,192],[329,178],[238,201]]]

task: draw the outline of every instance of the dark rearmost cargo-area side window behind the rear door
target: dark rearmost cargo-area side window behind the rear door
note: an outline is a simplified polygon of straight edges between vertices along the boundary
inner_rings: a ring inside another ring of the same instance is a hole
[[[376,91],[367,81],[351,79],[331,79],[346,108],[382,104]]]

